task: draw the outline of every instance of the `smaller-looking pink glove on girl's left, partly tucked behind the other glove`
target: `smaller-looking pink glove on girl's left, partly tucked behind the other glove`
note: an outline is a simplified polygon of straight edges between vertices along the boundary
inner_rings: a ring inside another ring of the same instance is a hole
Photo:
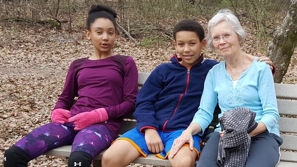
[[[70,111],[64,109],[55,109],[51,111],[51,121],[57,124],[68,123],[68,119],[71,117]]]

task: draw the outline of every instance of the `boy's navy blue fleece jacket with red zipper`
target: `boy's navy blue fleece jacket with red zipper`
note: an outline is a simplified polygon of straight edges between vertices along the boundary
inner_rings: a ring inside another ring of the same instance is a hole
[[[198,110],[206,75],[218,63],[203,61],[203,54],[191,69],[183,66],[176,55],[170,61],[151,72],[137,95],[133,116],[141,133],[145,128],[186,129]]]

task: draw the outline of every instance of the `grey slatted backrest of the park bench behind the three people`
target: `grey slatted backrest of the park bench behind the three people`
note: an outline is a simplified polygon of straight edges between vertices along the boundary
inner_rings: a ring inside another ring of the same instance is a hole
[[[150,73],[139,73],[138,83],[140,87],[145,83],[149,74]],[[297,151],[297,118],[293,118],[293,116],[297,116],[297,85],[275,83],[275,90],[278,98],[278,110],[281,116],[279,120],[281,137],[284,140],[281,149]],[[213,128],[213,126],[218,123],[218,110],[219,108],[216,109],[214,120],[210,128]],[[123,134],[134,128],[135,125],[136,121],[132,114],[126,115],[119,134]]]

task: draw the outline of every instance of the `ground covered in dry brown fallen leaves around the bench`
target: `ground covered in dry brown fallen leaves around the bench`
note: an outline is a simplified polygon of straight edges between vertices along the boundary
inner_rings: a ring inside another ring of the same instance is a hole
[[[254,29],[250,24],[245,29],[248,38],[243,49],[254,55],[257,52]],[[132,56],[141,72],[150,72],[158,64],[168,62],[174,51],[170,41],[146,48],[122,37],[118,37],[114,47],[115,53]],[[40,25],[0,22],[1,163],[5,149],[31,130],[50,122],[50,111],[62,91],[69,64],[92,52],[93,45],[81,29],[69,34]],[[205,58],[222,59],[209,49],[203,52]],[[297,51],[283,83],[297,84],[296,62]],[[66,166],[67,160],[60,157],[41,156],[30,162],[30,167]]]

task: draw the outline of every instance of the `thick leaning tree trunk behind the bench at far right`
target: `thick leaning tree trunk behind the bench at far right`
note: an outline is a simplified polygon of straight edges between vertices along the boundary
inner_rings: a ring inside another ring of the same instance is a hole
[[[275,83],[281,83],[287,73],[292,54],[297,45],[297,0],[291,5],[283,24],[276,30],[267,50],[267,56],[275,64]]]

